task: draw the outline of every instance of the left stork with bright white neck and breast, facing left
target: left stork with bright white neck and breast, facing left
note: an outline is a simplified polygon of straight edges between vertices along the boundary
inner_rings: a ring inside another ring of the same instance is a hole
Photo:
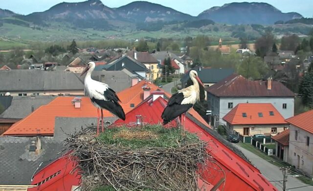
[[[98,123],[97,123],[97,135],[99,135],[99,123],[100,123],[100,114],[99,109],[101,110],[101,123],[102,123],[102,132],[104,131],[103,127],[103,109],[108,110],[113,113],[120,119],[125,120],[125,113],[121,105],[118,103],[119,98],[116,93],[108,86],[108,84],[93,80],[91,78],[91,73],[93,72],[96,64],[94,62],[89,62],[85,70],[82,72],[81,76],[87,72],[85,76],[85,90],[88,92],[89,98],[92,104],[97,108],[98,112]]]

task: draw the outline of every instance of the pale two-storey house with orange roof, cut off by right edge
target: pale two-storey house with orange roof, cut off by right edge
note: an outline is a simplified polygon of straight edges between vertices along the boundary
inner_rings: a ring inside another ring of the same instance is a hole
[[[286,119],[290,123],[288,163],[313,177],[313,110]]]

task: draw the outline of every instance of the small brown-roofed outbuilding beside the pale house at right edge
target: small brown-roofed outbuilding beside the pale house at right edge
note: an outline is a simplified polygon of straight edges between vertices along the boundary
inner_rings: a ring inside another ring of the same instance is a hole
[[[275,156],[286,163],[288,163],[289,154],[289,134],[290,130],[286,129],[272,137],[276,143]]]

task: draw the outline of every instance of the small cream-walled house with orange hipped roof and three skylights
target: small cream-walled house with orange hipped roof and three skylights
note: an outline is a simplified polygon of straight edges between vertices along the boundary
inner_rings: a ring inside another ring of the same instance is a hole
[[[238,103],[224,118],[227,134],[235,131],[243,136],[277,135],[288,124],[270,103]]]

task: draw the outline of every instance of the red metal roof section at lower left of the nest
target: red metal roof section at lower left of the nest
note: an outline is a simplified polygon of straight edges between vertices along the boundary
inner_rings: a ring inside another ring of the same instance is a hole
[[[67,155],[57,159],[34,175],[28,191],[71,191],[72,186],[80,184],[77,163]]]

